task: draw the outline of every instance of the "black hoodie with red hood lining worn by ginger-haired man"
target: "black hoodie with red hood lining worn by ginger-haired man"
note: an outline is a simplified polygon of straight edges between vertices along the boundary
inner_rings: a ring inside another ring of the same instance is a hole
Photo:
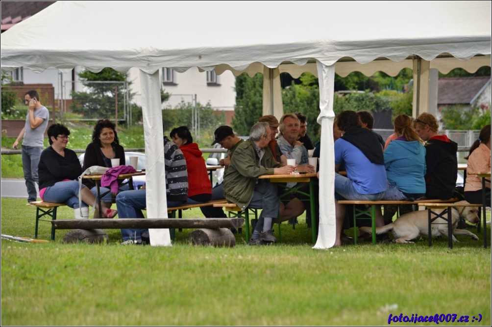
[[[426,145],[426,197],[449,199],[456,188],[458,144],[445,135],[433,136]]]

